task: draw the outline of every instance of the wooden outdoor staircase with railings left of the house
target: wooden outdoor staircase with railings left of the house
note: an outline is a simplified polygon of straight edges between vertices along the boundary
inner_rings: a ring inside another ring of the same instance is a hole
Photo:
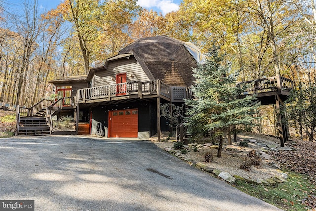
[[[34,136],[52,134],[52,116],[62,108],[62,98],[55,102],[41,100],[30,108],[16,109],[16,135]]]

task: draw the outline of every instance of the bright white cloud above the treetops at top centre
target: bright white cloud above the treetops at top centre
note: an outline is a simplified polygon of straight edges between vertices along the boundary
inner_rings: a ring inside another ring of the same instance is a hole
[[[163,15],[179,9],[179,5],[173,3],[173,0],[138,0],[137,4],[143,8],[156,7]]]

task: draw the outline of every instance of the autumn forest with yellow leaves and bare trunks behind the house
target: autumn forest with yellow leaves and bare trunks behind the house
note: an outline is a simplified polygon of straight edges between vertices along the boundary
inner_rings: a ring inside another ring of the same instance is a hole
[[[31,106],[52,94],[47,81],[84,75],[129,43],[155,35],[220,46],[238,81],[281,75],[294,82],[286,104],[291,136],[315,141],[314,0],[183,0],[166,14],[137,0],[64,0],[40,12],[0,0],[0,102]],[[274,106],[260,106],[255,132],[277,135]]]

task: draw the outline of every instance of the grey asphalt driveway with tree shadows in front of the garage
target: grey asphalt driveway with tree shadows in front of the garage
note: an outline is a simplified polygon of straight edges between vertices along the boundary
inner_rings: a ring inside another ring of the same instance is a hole
[[[0,139],[0,199],[36,211],[278,210],[150,141],[89,136]]]

